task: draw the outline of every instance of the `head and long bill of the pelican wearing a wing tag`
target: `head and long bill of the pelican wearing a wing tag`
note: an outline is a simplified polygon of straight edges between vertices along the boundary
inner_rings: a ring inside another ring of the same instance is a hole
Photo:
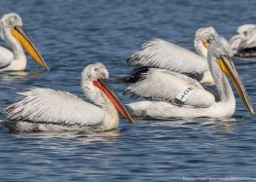
[[[233,52],[228,41],[223,37],[215,37],[211,41],[208,56],[214,57],[222,72],[231,79],[246,108],[254,115],[252,103],[233,62]]]

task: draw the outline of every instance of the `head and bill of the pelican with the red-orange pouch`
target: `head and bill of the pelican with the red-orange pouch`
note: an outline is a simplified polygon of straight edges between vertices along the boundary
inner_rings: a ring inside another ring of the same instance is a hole
[[[115,106],[116,110],[127,118],[129,123],[134,125],[134,120],[128,114],[128,110],[122,103],[117,93],[110,86],[108,78],[109,73],[102,63],[97,62],[88,65],[82,72],[82,87],[84,92],[87,93],[89,97],[94,100],[94,102],[98,102],[100,96],[97,95],[94,89],[96,89],[96,91],[100,91],[100,94],[103,93],[103,95],[105,95],[105,97],[107,97]],[[93,88],[91,88],[91,86],[93,86]]]

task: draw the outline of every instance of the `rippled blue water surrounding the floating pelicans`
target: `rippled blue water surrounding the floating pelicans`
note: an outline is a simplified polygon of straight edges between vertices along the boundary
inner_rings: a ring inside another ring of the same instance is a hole
[[[238,25],[256,18],[256,2],[240,0],[2,0],[0,7],[0,15],[18,12],[52,69],[44,72],[30,60],[24,75],[0,75],[0,108],[30,87],[83,96],[81,71],[96,61],[107,66],[122,95],[127,85],[114,78],[131,70],[124,60],[141,43],[156,37],[193,50],[199,27],[212,25],[229,39]],[[256,63],[235,61],[255,102]],[[239,99],[234,118],[226,120],[137,120],[130,126],[122,119],[119,130],[95,134],[12,134],[0,127],[0,181],[244,181],[256,177],[255,130],[255,117]]]

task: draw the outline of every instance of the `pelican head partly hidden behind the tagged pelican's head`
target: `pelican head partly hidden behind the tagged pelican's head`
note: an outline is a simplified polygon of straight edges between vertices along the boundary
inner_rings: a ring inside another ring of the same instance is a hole
[[[207,53],[210,47],[210,41],[218,36],[218,33],[211,26],[202,27],[197,30],[195,35],[195,48],[199,55],[207,58]]]

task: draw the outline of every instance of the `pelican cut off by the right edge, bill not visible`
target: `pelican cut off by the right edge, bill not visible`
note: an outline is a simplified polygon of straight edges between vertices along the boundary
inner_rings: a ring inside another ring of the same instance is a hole
[[[233,53],[238,57],[256,57],[256,24],[243,24],[238,27],[238,35],[229,43]]]

